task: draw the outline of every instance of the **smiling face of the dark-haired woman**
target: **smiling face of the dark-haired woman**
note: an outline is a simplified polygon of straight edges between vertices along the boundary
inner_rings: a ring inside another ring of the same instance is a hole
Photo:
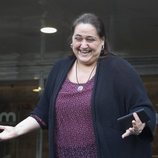
[[[78,24],[72,36],[72,50],[83,64],[93,64],[100,56],[104,40],[101,39],[96,28],[91,24]]]

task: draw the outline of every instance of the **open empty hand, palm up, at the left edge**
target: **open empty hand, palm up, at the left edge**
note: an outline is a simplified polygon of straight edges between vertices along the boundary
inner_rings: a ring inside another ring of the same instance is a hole
[[[0,125],[0,141],[9,140],[17,136],[15,127]]]

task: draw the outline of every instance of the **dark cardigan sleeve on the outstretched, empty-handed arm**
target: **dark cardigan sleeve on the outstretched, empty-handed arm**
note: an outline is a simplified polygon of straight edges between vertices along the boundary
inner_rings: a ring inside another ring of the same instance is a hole
[[[52,123],[53,121],[50,118],[50,114],[52,116],[52,108],[55,104],[55,97],[74,60],[74,56],[68,56],[59,60],[55,63],[48,75],[46,85],[40,100],[31,113],[31,116],[37,120],[42,128],[48,128],[50,122]]]

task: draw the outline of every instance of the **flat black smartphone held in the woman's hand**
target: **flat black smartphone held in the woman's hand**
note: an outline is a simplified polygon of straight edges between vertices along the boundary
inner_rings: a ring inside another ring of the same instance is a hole
[[[147,115],[147,113],[145,112],[144,109],[140,109],[140,110],[137,110],[135,112],[137,113],[137,115],[139,116],[140,120],[143,123],[147,123],[149,121],[149,116]],[[133,113],[130,113],[130,114],[122,116],[122,117],[119,117],[117,119],[119,125],[124,130],[132,127],[132,120],[134,120]]]

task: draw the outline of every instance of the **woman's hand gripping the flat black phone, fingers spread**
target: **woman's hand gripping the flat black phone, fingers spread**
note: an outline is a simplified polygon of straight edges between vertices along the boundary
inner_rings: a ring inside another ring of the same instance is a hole
[[[143,131],[145,127],[145,123],[142,123],[137,113],[133,113],[134,119],[132,121],[132,126],[126,130],[126,132],[122,135],[122,138],[125,138],[129,135],[139,135]]]

